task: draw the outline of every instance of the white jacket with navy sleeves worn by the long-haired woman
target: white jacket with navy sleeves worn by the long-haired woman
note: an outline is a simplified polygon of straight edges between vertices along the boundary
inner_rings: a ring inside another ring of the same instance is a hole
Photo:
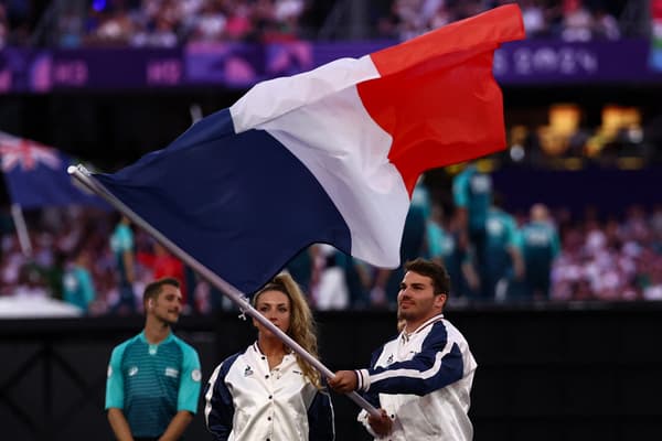
[[[293,354],[269,370],[257,343],[221,363],[205,389],[205,422],[220,441],[332,441],[329,395],[306,377]]]

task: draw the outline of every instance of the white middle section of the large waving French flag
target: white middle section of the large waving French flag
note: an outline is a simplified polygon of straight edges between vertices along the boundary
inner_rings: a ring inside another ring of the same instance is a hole
[[[367,114],[354,86],[373,74],[376,68],[370,57],[342,60],[340,68],[335,65],[297,75],[297,86],[290,82],[293,77],[268,82],[269,94],[249,92],[231,112],[236,118],[235,129],[268,131],[310,170],[348,225],[352,256],[395,268],[409,195],[397,169],[388,162],[393,138]],[[275,97],[292,93],[297,97],[285,103],[287,110],[271,109],[279,116],[245,115],[248,108],[265,109],[281,101]]]

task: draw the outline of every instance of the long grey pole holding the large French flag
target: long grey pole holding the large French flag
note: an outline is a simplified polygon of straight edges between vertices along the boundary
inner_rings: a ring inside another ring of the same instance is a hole
[[[216,275],[211,269],[202,265],[200,261],[197,261],[197,259],[195,259],[193,256],[189,255],[186,251],[181,249],[168,237],[163,236],[161,232],[152,227],[147,220],[140,217],[125,203],[115,197],[115,195],[110,193],[102,183],[95,180],[89,174],[89,172],[85,170],[83,165],[70,165],[70,168],[67,169],[67,173],[74,176],[86,189],[108,201],[110,205],[113,205],[115,208],[117,208],[119,212],[126,215],[129,219],[131,219],[131,222],[134,222],[140,228],[149,233],[170,252],[183,260],[184,263],[193,268],[193,270],[197,272],[203,279],[205,279],[207,282],[214,286],[214,288],[218,289],[225,297],[232,300],[239,308],[243,314],[248,314],[253,319],[257,320],[263,326],[268,329],[274,335],[278,336],[287,346],[289,346],[303,359],[306,359],[308,363],[314,366],[314,368],[322,373],[327,378],[333,378],[335,376],[335,374],[333,374],[333,372],[331,372],[327,366],[324,366],[319,359],[310,355],[303,347],[301,347],[301,345],[295,342],[289,335],[287,335],[280,329],[278,329],[267,318],[265,318],[255,308],[253,308],[248,298],[246,298],[246,295],[244,295],[238,289],[226,282],[218,275]],[[380,412],[377,411],[377,409],[375,409],[373,405],[367,402],[367,400],[365,400],[355,391],[349,392],[348,397],[356,405],[365,409],[373,417],[380,417]]]

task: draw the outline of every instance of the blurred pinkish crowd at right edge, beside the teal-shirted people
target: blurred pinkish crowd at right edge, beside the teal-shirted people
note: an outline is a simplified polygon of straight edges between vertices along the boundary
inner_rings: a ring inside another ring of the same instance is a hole
[[[557,300],[662,300],[662,205],[567,222],[552,278]]]

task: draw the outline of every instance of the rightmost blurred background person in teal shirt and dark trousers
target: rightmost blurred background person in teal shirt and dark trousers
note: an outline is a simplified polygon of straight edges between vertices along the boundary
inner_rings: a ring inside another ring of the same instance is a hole
[[[560,250],[560,240],[545,205],[531,207],[530,222],[522,227],[521,240],[528,295],[548,299],[552,265]]]

